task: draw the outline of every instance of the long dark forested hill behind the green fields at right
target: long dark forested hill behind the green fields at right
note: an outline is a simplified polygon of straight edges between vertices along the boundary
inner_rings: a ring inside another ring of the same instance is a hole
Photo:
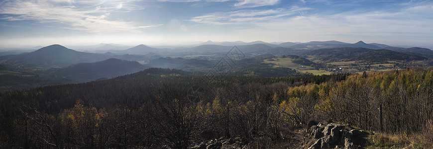
[[[407,60],[422,61],[429,60],[424,56],[410,53],[402,53],[391,50],[373,50],[367,48],[332,48],[318,49],[304,52],[301,55],[309,56],[326,62],[339,61],[365,61],[365,62],[382,62],[387,60]]]

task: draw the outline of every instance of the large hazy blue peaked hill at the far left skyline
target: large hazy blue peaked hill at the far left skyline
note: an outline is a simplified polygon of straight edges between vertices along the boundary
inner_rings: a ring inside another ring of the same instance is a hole
[[[77,63],[97,62],[109,57],[103,54],[78,52],[61,45],[51,45],[39,50],[19,54],[1,56],[5,64],[20,67],[63,67]]]

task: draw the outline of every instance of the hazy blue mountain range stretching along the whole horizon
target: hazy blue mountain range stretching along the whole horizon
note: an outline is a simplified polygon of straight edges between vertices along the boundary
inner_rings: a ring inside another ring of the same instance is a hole
[[[0,56],[0,64],[9,67],[16,68],[53,68],[53,67],[65,67],[78,63],[93,63],[104,61],[110,58],[116,58],[128,61],[137,61],[142,64],[149,64],[150,66],[166,66],[164,63],[159,63],[156,59],[161,57],[182,57],[189,56],[189,58],[201,58],[202,60],[218,60],[225,56],[225,54],[232,48],[232,46],[214,45],[219,43],[214,43],[212,41],[206,42],[206,45],[200,45],[192,48],[183,49],[168,49],[168,48],[153,48],[146,45],[137,45],[132,48],[125,50],[114,50],[106,53],[89,53],[89,52],[79,52],[72,49],[68,49],[61,45],[50,45],[47,47],[40,48],[33,52],[22,53],[17,55],[7,55]],[[214,43],[214,44],[212,44]],[[339,41],[312,41],[308,43],[293,43],[285,42],[280,44],[270,44],[263,41],[256,41],[251,43],[244,42],[224,42],[220,44],[245,44],[239,45],[237,48],[246,57],[257,57],[257,56],[282,56],[282,55],[301,55],[303,52],[308,52],[318,49],[335,49],[335,48],[366,48],[366,49],[385,49],[390,51],[405,52],[409,57],[398,58],[406,59],[422,59],[418,55],[431,55],[433,56],[433,51],[426,48],[399,48],[390,47],[384,44],[371,43],[367,44],[363,41],[357,43],[349,44]],[[104,44],[100,47],[112,47],[113,45]],[[108,50],[109,51],[109,50]],[[323,51],[323,50],[322,50]],[[325,50],[326,51],[326,50]],[[318,52],[318,51],[314,51]],[[312,53],[314,53],[312,51]],[[331,51],[330,51],[331,52]],[[375,52],[375,51],[371,51]],[[338,53],[335,53],[338,55]],[[377,51],[376,54],[389,54],[392,56],[401,55],[396,53],[391,53],[389,51],[383,52]],[[415,54],[415,55],[414,55]],[[305,54],[304,54],[305,55]],[[388,55],[388,56],[389,56]],[[348,56],[348,55],[347,55]],[[384,55],[387,57],[387,55]],[[342,58],[341,58],[342,59]],[[155,61],[150,61],[155,60]],[[202,62],[200,62],[202,63]],[[203,62],[208,63],[208,62]],[[182,63],[179,63],[182,64]],[[174,67],[180,69],[180,67]]]

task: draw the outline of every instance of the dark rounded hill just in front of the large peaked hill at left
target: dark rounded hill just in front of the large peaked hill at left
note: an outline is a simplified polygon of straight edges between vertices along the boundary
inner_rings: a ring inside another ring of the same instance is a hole
[[[52,69],[47,74],[84,82],[136,73],[144,69],[145,67],[138,62],[111,58],[101,62],[79,63],[61,69]]]

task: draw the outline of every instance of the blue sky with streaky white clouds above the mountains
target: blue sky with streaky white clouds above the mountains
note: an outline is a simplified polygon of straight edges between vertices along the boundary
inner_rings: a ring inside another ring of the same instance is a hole
[[[0,47],[208,40],[433,47],[433,0],[0,0]]]

